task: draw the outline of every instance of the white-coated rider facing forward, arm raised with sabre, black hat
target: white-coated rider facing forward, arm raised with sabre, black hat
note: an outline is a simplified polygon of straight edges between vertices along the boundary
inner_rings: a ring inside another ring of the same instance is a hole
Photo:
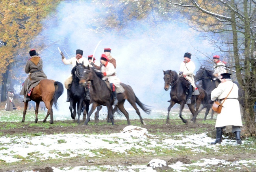
[[[83,50],[76,50],[76,57],[72,57],[71,59],[66,59],[63,52],[60,53],[61,57],[62,57],[62,61],[65,65],[71,65],[73,67],[76,66],[76,62],[77,63],[82,63],[85,67],[87,67],[89,65],[89,61],[83,57]],[[69,78],[67,78],[67,80],[65,80],[64,85],[65,88],[67,89],[67,102],[70,102],[70,89],[69,89],[69,85],[72,83],[72,75],[69,76]],[[89,96],[89,89],[86,89],[86,97],[85,100],[90,100],[90,96]]]

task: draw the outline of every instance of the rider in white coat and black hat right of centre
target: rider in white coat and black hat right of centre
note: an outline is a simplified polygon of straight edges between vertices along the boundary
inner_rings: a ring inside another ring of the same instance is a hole
[[[195,70],[195,63],[190,60],[191,59],[191,54],[190,53],[185,53],[184,54],[184,61],[180,64],[180,70],[178,72],[180,77],[185,78],[189,83],[189,89],[188,89],[188,96],[187,96],[187,101],[186,104],[191,104],[191,96],[193,92],[193,87],[196,89],[195,86],[195,80],[194,80],[194,70]],[[193,87],[192,87],[193,86]]]

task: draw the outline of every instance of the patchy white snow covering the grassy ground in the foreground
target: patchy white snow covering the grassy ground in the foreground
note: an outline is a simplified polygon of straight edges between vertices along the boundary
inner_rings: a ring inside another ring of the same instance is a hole
[[[177,139],[175,139],[177,138]],[[192,152],[204,152],[201,148],[210,148],[217,152],[219,145],[211,145],[209,142],[214,141],[206,135],[206,133],[198,135],[176,135],[163,136],[159,139],[155,135],[148,133],[147,129],[137,126],[127,126],[120,133],[109,135],[89,135],[89,134],[58,134],[58,135],[42,135],[36,137],[1,137],[0,138],[0,160],[7,163],[20,161],[21,158],[31,159],[33,161],[43,161],[47,159],[70,158],[76,156],[94,157],[104,156],[100,152],[95,153],[97,149],[108,149],[116,153],[127,154],[127,151],[140,150],[145,154],[154,154],[154,148],[161,146],[167,149],[176,149],[175,146],[184,146],[190,148]],[[235,141],[224,139],[222,145],[236,146]],[[243,141],[244,144],[244,141]],[[177,150],[177,149],[176,149]],[[203,162],[202,162],[203,161]],[[248,163],[255,164],[256,161],[234,161],[229,162],[219,159],[201,159],[201,161],[192,164],[183,164],[177,162],[169,165],[175,171],[188,170],[188,166],[198,166],[198,171],[206,169],[203,166],[211,166],[221,163],[227,166],[237,166],[239,164],[249,166]],[[130,171],[134,172],[139,169],[140,172],[155,171],[157,166],[165,166],[166,162],[161,159],[152,159],[148,166],[102,166],[111,171]],[[54,172],[75,172],[75,171],[100,171],[96,166],[77,166],[67,167],[62,170],[54,168]],[[197,171],[194,170],[194,171]]]

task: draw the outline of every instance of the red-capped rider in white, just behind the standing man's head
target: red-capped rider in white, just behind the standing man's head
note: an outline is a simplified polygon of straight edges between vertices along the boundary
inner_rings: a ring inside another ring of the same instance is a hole
[[[213,75],[216,77],[213,80],[219,80],[221,81],[221,74],[226,73],[226,64],[223,63],[220,59],[219,59],[219,55],[213,55],[213,61],[214,61],[214,65],[213,65],[213,70],[214,73]]]

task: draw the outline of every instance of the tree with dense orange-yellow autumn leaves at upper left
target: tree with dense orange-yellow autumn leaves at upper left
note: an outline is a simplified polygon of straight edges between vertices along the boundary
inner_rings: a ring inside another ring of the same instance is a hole
[[[53,11],[59,2],[60,0],[0,1],[1,101],[6,100],[7,79],[12,66],[17,63],[15,57],[27,54],[30,41],[41,31],[40,21]]]

